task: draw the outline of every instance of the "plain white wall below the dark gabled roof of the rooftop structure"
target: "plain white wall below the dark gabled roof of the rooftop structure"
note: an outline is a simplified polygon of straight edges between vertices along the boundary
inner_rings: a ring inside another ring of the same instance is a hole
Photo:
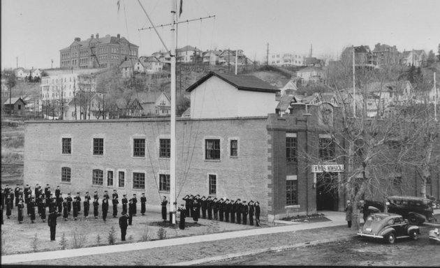
[[[191,91],[191,118],[267,116],[275,107],[275,93],[238,90],[216,76]]]

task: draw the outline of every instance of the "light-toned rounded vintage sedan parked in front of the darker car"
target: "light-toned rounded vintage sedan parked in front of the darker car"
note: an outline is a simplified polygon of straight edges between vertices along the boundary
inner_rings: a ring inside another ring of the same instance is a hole
[[[359,230],[360,237],[381,239],[394,244],[395,239],[411,237],[418,239],[420,229],[410,225],[401,215],[393,213],[376,213],[368,216],[367,221]]]

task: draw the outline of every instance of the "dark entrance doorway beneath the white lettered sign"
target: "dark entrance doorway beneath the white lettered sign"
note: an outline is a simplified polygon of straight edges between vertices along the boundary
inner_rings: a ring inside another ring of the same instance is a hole
[[[316,174],[316,210],[338,210],[337,173]]]

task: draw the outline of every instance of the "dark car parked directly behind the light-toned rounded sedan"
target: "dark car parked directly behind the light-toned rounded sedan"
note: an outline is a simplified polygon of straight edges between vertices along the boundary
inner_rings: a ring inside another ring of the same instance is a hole
[[[437,221],[432,209],[432,200],[414,196],[390,196],[387,198],[388,212],[402,215],[412,225],[425,221]]]

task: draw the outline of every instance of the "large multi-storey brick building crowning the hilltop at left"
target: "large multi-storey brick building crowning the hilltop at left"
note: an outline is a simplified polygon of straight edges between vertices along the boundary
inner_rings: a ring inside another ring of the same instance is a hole
[[[87,40],[76,37],[68,47],[59,50],[60,68],[107,68],[122,61],[138,59],[138,45],[121,37],[93,34]]]

